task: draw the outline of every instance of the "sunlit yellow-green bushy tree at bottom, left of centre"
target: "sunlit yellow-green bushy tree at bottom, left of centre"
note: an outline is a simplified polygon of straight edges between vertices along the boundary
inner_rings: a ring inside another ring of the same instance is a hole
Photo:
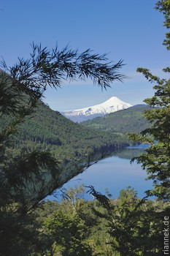
[[[90,236],[98,220],[83,199],[83,186],[65,192],[61,203],[42,202],[35,211],[36,221],[42,225],[42,237],[45,244],[42,254],[47,255],[93,255]],[[39,252],[39,249],[34,252]]]

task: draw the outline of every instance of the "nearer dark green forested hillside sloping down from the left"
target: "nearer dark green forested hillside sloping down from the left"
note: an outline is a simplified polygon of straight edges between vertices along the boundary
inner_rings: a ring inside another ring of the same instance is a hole
[[[1,119],[1,127],[12,118]],[[104,153],[127,145],[124,136],[96,132],[80,126],[51,110],[42,101],[15,135],[15,151],[20,149],[50,149],[58,159],[77,159],[91,153]]]

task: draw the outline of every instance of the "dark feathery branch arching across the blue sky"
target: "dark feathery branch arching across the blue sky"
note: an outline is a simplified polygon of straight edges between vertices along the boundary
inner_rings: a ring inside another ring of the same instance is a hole
[[[106,89],[114,80],[123,81],[125,78],[118,72],[123,61],[113,64],[108,61],[106,54],[98,55],[90,49],[79,53],[68,46],[62,50],[58,50],[57,46],[48,50],[34,42],[31,47],[30,59],[18,58],[18,63],[9,68],[1,61],[1,66],[17,81],[21,90],[34,90],[34,95],[38,97],[47,86],[56,88],[61,86],[63,80],[90,78],[93,83]]]

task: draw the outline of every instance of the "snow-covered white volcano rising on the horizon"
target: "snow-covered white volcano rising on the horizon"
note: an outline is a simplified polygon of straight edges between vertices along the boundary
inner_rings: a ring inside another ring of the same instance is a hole
[[[103,102],[101,104],[94,105],[88,108],[63,111],[61,112],[61,114],[66,118],[71,119],[72,121],[81,122],[98,116],[105,116],[109,113],[113,113],[115,111],[123,110],[130,107],[132,107],[132,105],[123,102],[121,99],[118,99],[117,97],[111,97],[110,99],[107,99],[106,102]]]

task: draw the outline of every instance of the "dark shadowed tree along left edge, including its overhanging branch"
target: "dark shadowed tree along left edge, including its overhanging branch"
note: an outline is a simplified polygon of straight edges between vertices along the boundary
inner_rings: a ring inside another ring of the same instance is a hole
[[[34,112],[47,86],[56,88],[63,80],[91,78],[106,89],[114,80],[124,78],[117,72],[122,67],[121,60],[112,64],[105,55],[90,50],[78,53],[68,47],[48,50],[33,44],[32,48],[30,59],[18,59],[13,67],[1,61],[0,113],[2,119],[5,115],[11,118],[0,131],[1,255],[18,255],[17,240],[26,237],[23,219],[40,200],[73,176],[71,170],[68,176],[62,177],[58,159],[46,149],[14,152],[11,146],[20,124]],[[77,167],[77,173],[81,171]],[[25,255],[22,250],[20,255]]]

